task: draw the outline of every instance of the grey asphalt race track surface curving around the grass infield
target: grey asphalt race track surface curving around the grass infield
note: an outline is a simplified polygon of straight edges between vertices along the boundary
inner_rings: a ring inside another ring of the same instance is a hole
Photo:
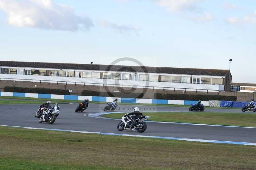
[[[39,123],[38,118],[34,117],[38,105],[0,105],[0,125],[256,143],[256,130],[250,128],[147,122],[148,129],[144,133],[127,130],[120,132],[116,129],[117,124],[120,122],[119,120],[84,116],[86,113],[102,113],[103,111],[100,108],[106,105],[91,103],[85,112],[75,113],[77,106],[78,104],[61,104],[60,115],[56,121],[50,125],[45,122]],[[140,107],[141,110],[145,109],[145,111],[188,111],[188,107],[119,105],[116,112],[128,113],[131,112],[133,107]],[[238,109],[206,108],[205,111],[241,113]],[[145,113],[144,115],[147,114]]]

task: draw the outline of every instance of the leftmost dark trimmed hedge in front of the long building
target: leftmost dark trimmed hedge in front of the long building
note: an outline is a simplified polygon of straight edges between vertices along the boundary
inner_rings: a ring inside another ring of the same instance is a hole
[[[10,87],[10,86],[5,86],[4,92],[60,94],[60,95],[70,94],[69,90],[62,90],[62,89],[26,88],[26,87]]]

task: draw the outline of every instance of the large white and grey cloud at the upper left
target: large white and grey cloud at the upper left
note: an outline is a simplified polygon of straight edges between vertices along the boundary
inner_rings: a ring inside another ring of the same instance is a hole
[[[16,27],[77,31],[94,26],[90,18],[77,16],[72,6],[52,0],[0,0],[0,10]]]

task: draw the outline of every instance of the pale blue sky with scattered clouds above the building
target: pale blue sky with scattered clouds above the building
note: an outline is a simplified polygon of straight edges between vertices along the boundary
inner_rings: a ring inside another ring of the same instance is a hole
[[[0,0],[0,60],[228,69],[256,83],[253,0]]]

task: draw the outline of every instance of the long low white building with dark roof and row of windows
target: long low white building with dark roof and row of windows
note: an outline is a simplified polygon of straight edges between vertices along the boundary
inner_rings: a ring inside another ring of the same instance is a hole
[[[0,61],[0,80],[166,90],[231,90],[229,70]]]

